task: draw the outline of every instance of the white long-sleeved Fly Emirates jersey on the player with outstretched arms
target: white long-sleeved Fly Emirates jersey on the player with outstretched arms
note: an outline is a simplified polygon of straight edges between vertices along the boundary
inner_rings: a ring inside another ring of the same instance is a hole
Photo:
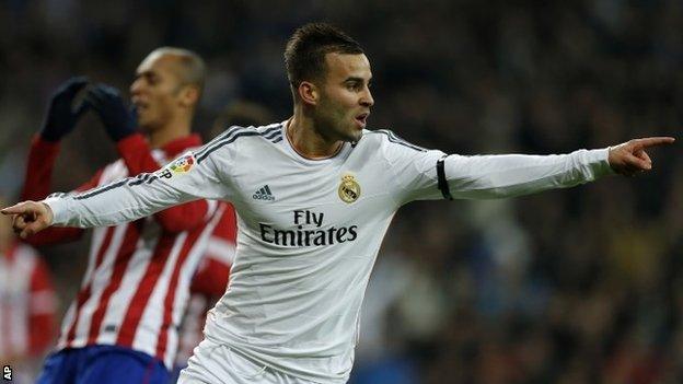
[[[154,174],[45,202],[55,224],[101,226],[197,198],[231,201],[236,255],[206,337],[287,374],[342,383],[372,265],[402,205],[517,196],[611,173],[606,149],[445,156],[386,130],[366,130],[335,156],[309,160],[286,126],[232,127]]]

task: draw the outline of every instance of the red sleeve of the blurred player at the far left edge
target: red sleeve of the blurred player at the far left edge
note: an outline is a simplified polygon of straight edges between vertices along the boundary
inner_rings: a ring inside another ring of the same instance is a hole
[[[31,277],[30,353],[39,356],[51,346],[57,322],[57,294],[47,265],[39,256]]]

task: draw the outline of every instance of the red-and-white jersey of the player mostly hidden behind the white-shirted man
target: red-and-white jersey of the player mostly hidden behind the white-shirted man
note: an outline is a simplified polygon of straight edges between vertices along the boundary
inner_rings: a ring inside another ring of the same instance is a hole
[[[204,339],[207,312],[225,293],[230,280],[238,224],[232,205],[225,205],[225,209],[209,237],[205,257],[199,263],[189,288],[189,304],[181,328],[181,345],[176,357],[178,366],[186,365],[193,349]]]

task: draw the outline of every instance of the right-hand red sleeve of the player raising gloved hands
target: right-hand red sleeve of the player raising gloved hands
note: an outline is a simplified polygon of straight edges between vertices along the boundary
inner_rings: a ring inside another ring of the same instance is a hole
[[[116,148],[131,176],[143,172],[154,172],[160,167],[160,164],[152,158],[147,140],[140,133],[119,140]],[[165,209],[155,213],[154,218],[165,231],[183,232],[202,224],[208,209],[206,200],[196,200]]]

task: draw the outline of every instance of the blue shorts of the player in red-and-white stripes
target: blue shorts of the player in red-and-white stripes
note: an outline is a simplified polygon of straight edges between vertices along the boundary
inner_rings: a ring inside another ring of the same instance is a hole
[[[163,362],[147,353],[117,346],[62,349],[50,354],[37,384],[166,384]]]

